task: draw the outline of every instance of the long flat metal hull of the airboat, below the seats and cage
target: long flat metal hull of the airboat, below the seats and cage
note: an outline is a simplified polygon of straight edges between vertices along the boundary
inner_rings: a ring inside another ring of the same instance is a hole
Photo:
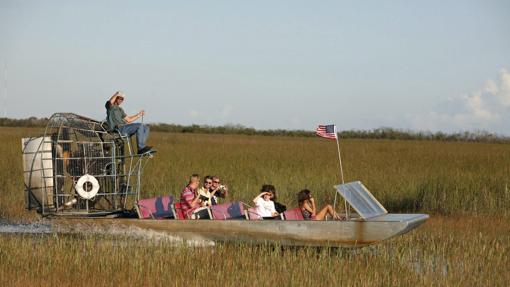
[[[385,214],[369,220],[153,220],[127,218],[56,219],[57,227],[138,227],[184,240],[246,242],[291,246],[361,247],[411,231],[426,214]],[[69,229],[71,228],[71,229]]]

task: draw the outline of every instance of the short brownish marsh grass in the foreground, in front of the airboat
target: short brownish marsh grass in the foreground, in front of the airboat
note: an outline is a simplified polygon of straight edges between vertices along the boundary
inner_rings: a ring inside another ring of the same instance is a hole
[[[433,218],[363,249],[216,245],[105,235],[1,235],[2,286],[505,286],[505,220]]]

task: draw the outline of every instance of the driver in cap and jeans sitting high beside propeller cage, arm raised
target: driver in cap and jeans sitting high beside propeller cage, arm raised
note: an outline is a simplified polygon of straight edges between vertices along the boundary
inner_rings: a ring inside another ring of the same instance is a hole
[[[152,147],[145,145],[149,137],[149,126],[142,123],[134,123],[134,121],[143,117],[145,111],[141,110],[135,115],[128,116],[120,107],[125,97],[126,95],[123,92],[117,91],[106,102],[106,123],[108,130],[118,130],[122,135],[129,137],[136,134],[138,154],[146,153],[152,149]]]

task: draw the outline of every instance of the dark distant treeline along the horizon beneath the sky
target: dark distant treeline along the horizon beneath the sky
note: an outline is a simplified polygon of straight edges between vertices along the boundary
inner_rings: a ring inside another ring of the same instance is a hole
[[[2,127],[45,127],[47,118],[30,117],[28,119],[0,118]],[[257,130],[243,125],[227,124],[224,126],[208,125],[176,125],[155,123],[149,124],[151,131],[172,133],[201,133],[201,134],[242,134],[242,135],[265,135],[265,136],[294,136],[314,137],[315,132],[306,130]],[[349,139],[392,139],[392,140],[437,140],[437,141],[468,141],[488,143],[510,143],[510,138],[486,131],[476,132],[429,132],[411,131],[394,128],[377,128],[373,130],[347,130],[338,133],[340,138]]]

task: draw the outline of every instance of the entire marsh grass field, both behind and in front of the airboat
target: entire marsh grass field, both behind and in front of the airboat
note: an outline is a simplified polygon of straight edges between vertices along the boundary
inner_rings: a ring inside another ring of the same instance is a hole
[[[20,139],[0,128],[0,218],[24,209]],[[335,143],[318,138],[152,133],[158,154],[143,197],[178,195],[191,173],[216,174],[231,199],[264,183],[295,206],[302,188],[331,202]],[[361,180],[390,212],[425,212],[417,230],[355,250],[219,244],[175,246],[113,235],[0,235],[0,286],[506,286],[510,282],[510,147],[433,141],[342,140],[347,181]]]

